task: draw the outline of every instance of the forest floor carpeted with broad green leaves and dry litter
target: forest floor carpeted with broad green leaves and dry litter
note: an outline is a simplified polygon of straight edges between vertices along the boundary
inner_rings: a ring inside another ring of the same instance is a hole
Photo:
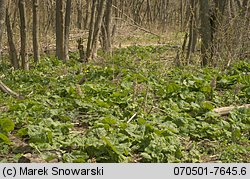
[[[173,66],[182,34],[118,34],[112,56],[0,65],[1,162],[250,162],[250,63]],[[159,44],[159,45],[155,45]],[[78,82],[84,79],[83,84]],[[216,81],[216,85],[211,85]]]

